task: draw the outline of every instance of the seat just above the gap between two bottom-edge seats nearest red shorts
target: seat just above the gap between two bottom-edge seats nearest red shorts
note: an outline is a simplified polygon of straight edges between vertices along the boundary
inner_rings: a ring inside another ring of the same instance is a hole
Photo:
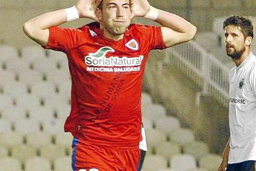
[[[158,155],[163,155],[167,160],[170,160],[173,155],[181,153],[181,147],[175,143],[165,141],[155,148],[155,153]]]

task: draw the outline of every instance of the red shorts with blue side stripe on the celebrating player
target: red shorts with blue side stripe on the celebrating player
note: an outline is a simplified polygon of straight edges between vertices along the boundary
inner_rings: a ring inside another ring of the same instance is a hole
[[[139,146],[97,146],[74,138],[72,148],[73,171],[136,171],[139,165]]]

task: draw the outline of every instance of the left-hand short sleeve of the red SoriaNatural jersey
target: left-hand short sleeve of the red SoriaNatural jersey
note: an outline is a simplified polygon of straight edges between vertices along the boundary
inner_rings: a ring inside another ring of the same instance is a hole
[[[73,48],[81,37],[82,31],[72,28],[60,28],[54,26],[49,28],[48,45],[45,49],[52,49],[54,51],[67,52]]]

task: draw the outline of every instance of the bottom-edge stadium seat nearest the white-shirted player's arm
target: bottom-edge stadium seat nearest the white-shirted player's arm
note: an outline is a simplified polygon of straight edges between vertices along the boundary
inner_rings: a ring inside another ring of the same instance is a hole
[[[222,157],[216,154],[208,154],[199,159],[199,167],[209,171],[218,170]]]

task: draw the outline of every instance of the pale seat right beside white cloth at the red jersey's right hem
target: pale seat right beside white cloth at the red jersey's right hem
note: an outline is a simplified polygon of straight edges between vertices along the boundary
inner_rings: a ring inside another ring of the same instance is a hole
[[[146,141],[149,148],[156,148],[161,143],[164,143],[164,141],[166,141],[166,134],[157,129],[148,129],[146,131]]]

